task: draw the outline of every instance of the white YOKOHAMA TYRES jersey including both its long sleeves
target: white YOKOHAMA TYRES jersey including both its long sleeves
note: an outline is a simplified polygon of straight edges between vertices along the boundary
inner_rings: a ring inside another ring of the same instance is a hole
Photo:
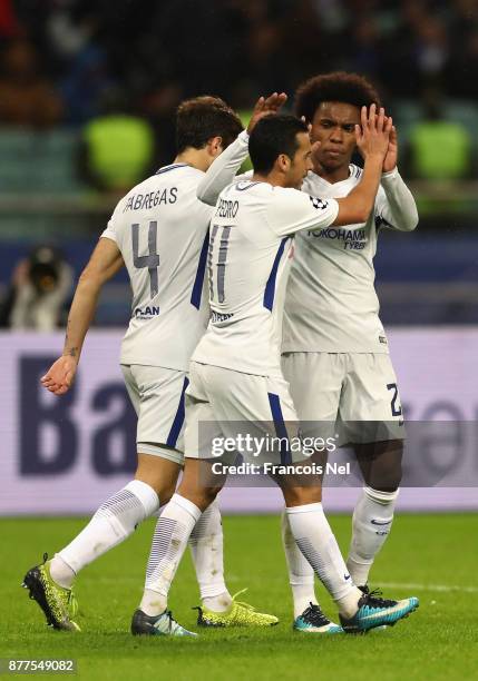
[[[247,146],[244,131],[215,159],[198,185],[202,200],[213,204],[233,181]],[[351,165],[348,179],[333,185],[310,172],[302,190],[323,199],[342,198],[359,182],[361,172]],[[388,353],[374,289],[377,234],[382,225],[411,231],[417,223],[413,197],[394,168],[382,175],[367,224],[301,231],[287,285],[283,351]]]

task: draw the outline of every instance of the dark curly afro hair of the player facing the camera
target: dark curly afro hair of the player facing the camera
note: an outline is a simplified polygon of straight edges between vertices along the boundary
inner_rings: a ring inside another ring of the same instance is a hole
[[[372,103],[381,106],[378,91],[367,78],[345,71],[314,76],[300,85],[295,92],[295,114],[305,116],[311,122],[323,101],[340,101],[359,108]]]

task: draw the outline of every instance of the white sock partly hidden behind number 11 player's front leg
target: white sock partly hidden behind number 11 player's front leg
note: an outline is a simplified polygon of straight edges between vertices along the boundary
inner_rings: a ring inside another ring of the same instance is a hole
[[[289,570],[292,599],[294,601],[294,620],[299,618],[311,603],[318,605],[314,591],[314,571],[302,551],[299,549],[289,523],[289,515],[282,513],[282,543]]]

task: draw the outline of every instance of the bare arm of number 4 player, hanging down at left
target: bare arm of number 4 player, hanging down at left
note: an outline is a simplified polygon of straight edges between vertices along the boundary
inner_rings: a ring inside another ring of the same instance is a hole
[[[108,238],[99,239],[75,292],[61,357],[53,362],[41,378],[41,384],[50,393],[64,395],[70,388],[101,287],[123,265],[123,256],[115,241]]]

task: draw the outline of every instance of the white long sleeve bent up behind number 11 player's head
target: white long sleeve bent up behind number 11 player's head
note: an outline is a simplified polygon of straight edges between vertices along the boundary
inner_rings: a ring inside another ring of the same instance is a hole
[[[221,191],[235,179],[250,179],[252,172],[237,175],[237,170],[248,156],[248,135],[243,130],[235,141],[227,147],[209,166],[204,178],[197,185],[197,198],[215,206]]]

